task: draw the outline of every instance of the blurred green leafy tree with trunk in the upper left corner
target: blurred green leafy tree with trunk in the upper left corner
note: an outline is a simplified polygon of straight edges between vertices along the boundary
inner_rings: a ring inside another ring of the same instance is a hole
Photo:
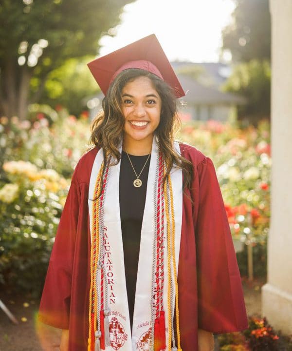
[[[1,0],[0,113],[25,115],[48,74],[66,59],[95,55],[131,0]],[[37,89],[31,94],[31,78]]]

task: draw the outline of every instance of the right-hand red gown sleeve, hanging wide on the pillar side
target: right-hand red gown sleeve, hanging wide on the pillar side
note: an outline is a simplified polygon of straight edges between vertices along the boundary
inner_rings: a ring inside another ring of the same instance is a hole
[[[198,328],[225,333],[248,328],[241,278],[212,160],[197,165]]]

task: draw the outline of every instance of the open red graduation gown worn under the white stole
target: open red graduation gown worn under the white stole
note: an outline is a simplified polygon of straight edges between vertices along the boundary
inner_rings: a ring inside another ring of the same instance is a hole
[[[180,143],[194,165],[192,190],[183,195],[178,268],[183,351],[198,350],[198,328],[215,333],[248,328],[229,223],[212,160]],[[56,233],[39,307],[39,320],[69,329],[69,350],[86,351],[90,290],[88,191],[98,149],[83,155]],[[189,200],[188,196],[193,200]]]

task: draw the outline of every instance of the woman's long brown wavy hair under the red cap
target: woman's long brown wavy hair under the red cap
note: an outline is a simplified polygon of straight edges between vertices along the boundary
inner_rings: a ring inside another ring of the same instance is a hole
[[[120,161],[121,154],[118,149],[123,137],[125,123],[125,117],[121,110],[122,90],[129,81],[141,76],[151,80],[162,101],[160,122],[155,133],[159,139],[160,150],[167,167],[164,181],[172,166],[175,165],[183,171],[183,190],[186,187],[190,189],[193,165],[173,148],[174,134],[181,123],[178,116],[177,99],[172,88],[166,82],[148,71],[129,68],[117,75],[110,84],[107,95],[102,100],[103,110],[91,122],[89,142],[98,148],[103,148],[104,159],[108,154],[114,156],[116,161],[112,164],[117,164]],[[105,164],[103,172],[104,170]]]

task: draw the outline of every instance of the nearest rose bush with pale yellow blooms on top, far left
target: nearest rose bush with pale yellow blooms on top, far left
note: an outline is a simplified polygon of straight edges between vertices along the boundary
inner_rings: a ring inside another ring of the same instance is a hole
[[[30,162],[7,161],[0,188],[0,283],[38,294],[70,180]]]

